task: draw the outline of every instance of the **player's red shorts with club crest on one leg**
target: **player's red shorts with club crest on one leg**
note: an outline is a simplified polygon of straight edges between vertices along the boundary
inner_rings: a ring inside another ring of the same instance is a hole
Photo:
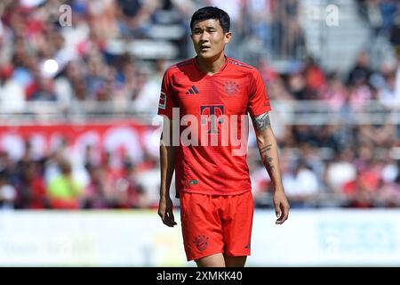
[[[188,261],[223,253],[250,256],[252,191],[222,196],[180,191],[180,223]]]

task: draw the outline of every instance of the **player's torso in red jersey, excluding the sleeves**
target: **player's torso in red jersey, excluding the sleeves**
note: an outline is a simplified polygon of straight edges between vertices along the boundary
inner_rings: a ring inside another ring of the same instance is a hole
[[[192,60],[178,65],[172,74],[168,91],[173,106],[179,108],[181,120],[194,116],[198,126],[191,124],[190,132],[185,124],[180,127],[177,189],[218,195],[249,191],[245,147],[239,151],[240,139],[246,141],[242,119],[247,118],[251,69],[227,61],[219,72],[208,76]]]

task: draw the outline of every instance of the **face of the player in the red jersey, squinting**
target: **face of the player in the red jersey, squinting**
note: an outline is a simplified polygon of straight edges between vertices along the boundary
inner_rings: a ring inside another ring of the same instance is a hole
[[[197,21],[192,29],[192,41],[197,55],[204,60],[216,60],[230,41],[232,34],[224,33],[220,21]]]

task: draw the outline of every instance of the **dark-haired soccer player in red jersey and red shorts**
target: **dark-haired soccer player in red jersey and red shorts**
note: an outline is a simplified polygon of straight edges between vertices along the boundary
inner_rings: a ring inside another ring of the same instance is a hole
[[[242,132],[247,121],[241,118],[250,114],[261,159],[274,185],[276,224],[283,224],[289,213],[268,117],[268,94],[257,69],[224,53],[232,37],[229,26],[228,14],[219,8],[204,7],[193,14],[191,39],[197,55],[165,71],[158,106],[158,114],[164,115],[158,215],[167,226],[176,224],[170,197],[175,171],[184,248],[188,261],[202,267],[244,266],[251,254],[249,169],[245,151],[237,151],[233,143],[235,136],[228,134],[228,143],[220,142],[227,139],[223,131],[228,122],[230,131],[247,139]],[[176,122],[178,142],[173,137]],[[183,143],[182,137],[192,143]],[[212,138],[220,141],[212,143]]]

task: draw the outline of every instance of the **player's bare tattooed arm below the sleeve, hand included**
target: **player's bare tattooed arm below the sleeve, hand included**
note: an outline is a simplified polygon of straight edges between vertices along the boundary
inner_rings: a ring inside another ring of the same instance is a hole
[[[278,147],[275,134],[269,121],[269,114],[265,112],[252,117],[252,125],[257,138],[260,156],[268,175],[274,186],[274,207],[276,211],[276,224],[284,224],[289,216],[289,202],[284,194],[284,185],[279,168]]]

